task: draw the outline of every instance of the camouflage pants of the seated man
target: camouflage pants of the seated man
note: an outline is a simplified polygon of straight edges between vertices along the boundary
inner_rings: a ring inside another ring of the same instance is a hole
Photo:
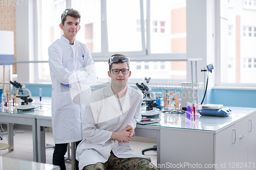
[[[96,164],[84,166],[82,170],[104,170],[104,169],[120,169],[120,170],[132,170],[132,169],[152,169],[154,168],[154,164],[151,163],[149,160],[144,158],[118,158],[116,157],[113,152],[111,151],[111,155],[109,160],[105,163],[98,162]]]

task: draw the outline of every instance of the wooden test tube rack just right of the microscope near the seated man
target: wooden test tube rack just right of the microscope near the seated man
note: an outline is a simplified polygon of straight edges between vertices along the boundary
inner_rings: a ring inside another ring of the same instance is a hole
[[[179,109],[180,106],[180,98],[178,92],[174,94],[174,91],[164,92],[164,106],[175,107],[175,109]]]

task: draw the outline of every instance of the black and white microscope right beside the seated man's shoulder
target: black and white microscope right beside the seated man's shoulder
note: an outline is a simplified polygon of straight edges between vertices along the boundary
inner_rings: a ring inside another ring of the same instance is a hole
[[[143,93],[143,102],[146,102],[146,111],[141,112],[142,117],[155,117],[160,114],[159,110],[156,110],[158,104],[156,103],[157,99],[154,97],[154,93],[147,87],[144,83],[136,83],[136,86]]]

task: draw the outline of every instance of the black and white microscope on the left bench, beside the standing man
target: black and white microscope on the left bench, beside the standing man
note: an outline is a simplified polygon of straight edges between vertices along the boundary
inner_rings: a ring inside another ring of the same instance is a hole
[[[34,110],[35,106],[32,105],[32,103],[31,103],[33,101],[33,99],[28,98],[29,96],[31,96],[30,90],[27,89],[24,84],[20,84],[16,81],[14,81],[14,82],[10,81],[10,83],[14,87],[19,88],[17,98],[20,98],[24,101],[24,102],[22,102],[22,105],[17,107],[17,110],[18,111],[19,110],[22,110],[22,111]],[[27,95],[24,95],[24,91],[26,91]]]

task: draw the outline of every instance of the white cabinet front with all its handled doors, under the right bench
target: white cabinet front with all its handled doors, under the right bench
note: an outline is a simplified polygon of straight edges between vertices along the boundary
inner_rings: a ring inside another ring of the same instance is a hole
[[[255,169],[256,113],[216,134],[215,160],[225,169]]]

